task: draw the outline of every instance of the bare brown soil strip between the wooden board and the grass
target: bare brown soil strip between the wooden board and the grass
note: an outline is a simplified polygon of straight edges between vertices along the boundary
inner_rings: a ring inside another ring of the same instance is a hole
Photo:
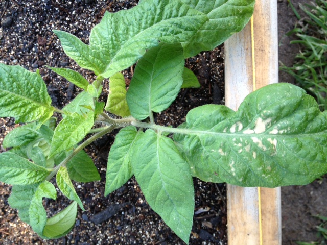
[[[308,1],[293,0],[292,3],[300,16],[304,17],[305,13],[301,11],[299,5],[307,4]],[[285,35],[294,28],[296,21],[297,18],[288,1],[278,1],[278,55],[279,61],[286,66],[293,65],[295,54],[300,50],[300,46],[289,44],[295,37]],[[279,71],[279,82],[294,83],[294,79],[285,72]],[[327,216],[326,176],[306,186],[282,187],[282,244],[317,241],[316,226],[320,225],[321,221],[314,217],[316,215]]]

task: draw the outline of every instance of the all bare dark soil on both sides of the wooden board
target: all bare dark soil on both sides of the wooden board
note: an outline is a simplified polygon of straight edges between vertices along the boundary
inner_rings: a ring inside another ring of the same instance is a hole
[[[79,69],[63,53],[58,38],[51,30],[67,31],[87,43],[91,28],[101,20],[106,10],[115,12],[128,9],[137,2],[2,0],[0,62],[22,65],[30,71],[39,69],[48,85],[53,105],[62,108],[74,99],[79,90],[50,72],[45,65],[78,70],[89,81],[95,76],[90,71]],[[298,3],[295,5],[297,7]],[[278,17],[281,61],[291,65],[298,47],[290,47],[289,38],[284,37],[296,21],[287,0],[278,1]],[[185,120],[190,109],[204,104],[223,103],[223,46],[186,60],[186,66],[195,72],[201,88],[182,89],[168,110],[155,115],[157,124],[177,127]],[[125,78],[128,83],[131,69],[125,71]],[[283,74],[280,80],[292,82]],[[108,92],[107,81],[104,92]],[[5,151],[1,144],[3,137],[16,126],[13,119],[0,119],[0,152]],[[104,197],[106,158],[115,133],[102,137],[86,149],[94,158],[102,181],[74,183],[86,211],[79,210],[73,231],[63,238],[50,241],[40,239],[28,225],[20,221],[17,211],[8,205],[11,187],[0,183],[0,244],[183,244],[147,205],[135,179],[132,178],[119,190]],[[204,183],[194,179],[194,185],[196,210],[190,244],[227,244],[225,184]],[[294,244],[294,240],[315,240],[314,227],[318,223],[311,215],[327,216],[326,187],[326,179],[323,179],[304,187],[282,188],[283,244]],[[44,201],[49,215],[67,204],[67,199],[60,194],[57,201]]]

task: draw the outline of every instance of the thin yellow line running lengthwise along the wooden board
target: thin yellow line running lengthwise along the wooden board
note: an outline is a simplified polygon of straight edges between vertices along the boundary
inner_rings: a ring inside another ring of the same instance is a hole
[[[252,79],[253,79],[253,91],[256,90],[255,80],[255,49],[254,49],[254,27],[253,27],[253,15],[251,17],[251,47],[252,47]],[[258,187],[258,209],[259,209],[259,236],[260,245],[263,245],[262,238],[262,216],[261,216],[261,188]]]

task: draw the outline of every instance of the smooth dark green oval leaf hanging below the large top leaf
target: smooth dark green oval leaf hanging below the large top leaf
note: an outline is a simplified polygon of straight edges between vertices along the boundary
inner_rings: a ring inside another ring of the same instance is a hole
[[[183,83],[180,44],[161,44],[149,50],[136,65],[126,99],[133,117],[147,118],[151,111],[166,110]]]

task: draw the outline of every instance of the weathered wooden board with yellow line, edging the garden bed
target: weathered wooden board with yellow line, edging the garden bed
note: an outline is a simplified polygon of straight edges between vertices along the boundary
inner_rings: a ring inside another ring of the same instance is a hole
[[[251,22],[225,42],[225,101],[234,110],[278,82],[277,1],[256,0]],[[227,226],[229,245],[281,244],[281,189],[227,185]]]

